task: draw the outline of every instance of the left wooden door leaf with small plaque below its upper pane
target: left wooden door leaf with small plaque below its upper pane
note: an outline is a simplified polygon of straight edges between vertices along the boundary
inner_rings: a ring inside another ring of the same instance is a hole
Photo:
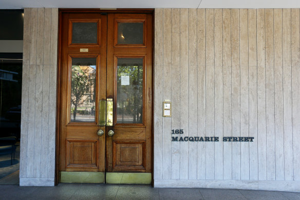
[[[107,16],[62,13],[61,27],[59,171],[105,172]]]

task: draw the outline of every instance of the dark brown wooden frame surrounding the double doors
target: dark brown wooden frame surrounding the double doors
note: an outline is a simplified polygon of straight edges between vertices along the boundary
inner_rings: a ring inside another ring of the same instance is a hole
[[[60,95],[61,95],[61,49],[62,49],[62,14],[63,13],[143,13],[143,14],[152,14],[152,121],[154,116],[154,9],[68,9],[63,8],[59,9],[59,25],[58,25],[58,68],[57,68],[57,115],[56,115],[56,125],[55,125],[55,176],[54,176],[54,185],[59,184],[59,138],[60,138]],[[152,123],[152,184],[153,181],[153,170],[154,170],[154,127]]]

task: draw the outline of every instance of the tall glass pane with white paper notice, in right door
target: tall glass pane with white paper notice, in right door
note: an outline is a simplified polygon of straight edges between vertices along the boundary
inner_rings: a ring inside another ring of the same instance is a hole
[[[143,58],[118,58],[117,123],[143,123]]]

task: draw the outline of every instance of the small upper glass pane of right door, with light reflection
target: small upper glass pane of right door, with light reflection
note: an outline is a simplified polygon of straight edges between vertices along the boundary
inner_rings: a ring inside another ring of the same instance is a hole
[[[118,23],[118,44],[143,44],[144,23]]]

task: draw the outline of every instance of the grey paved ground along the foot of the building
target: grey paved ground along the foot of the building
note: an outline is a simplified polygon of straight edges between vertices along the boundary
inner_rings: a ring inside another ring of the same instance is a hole
[[[0,186],[0,199],[300,199],[300,193],[148,185],[59,184],[55,187]]]

